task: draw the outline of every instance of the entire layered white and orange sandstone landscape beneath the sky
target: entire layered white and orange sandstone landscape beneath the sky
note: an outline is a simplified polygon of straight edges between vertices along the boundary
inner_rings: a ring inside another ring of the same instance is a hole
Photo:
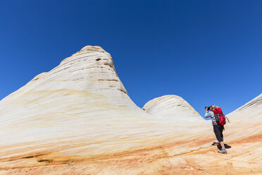
[[[0,102],[0,174],[261,174],[262,95],[211,121],[181,97],[132,102],[108,54],[87,46]]]

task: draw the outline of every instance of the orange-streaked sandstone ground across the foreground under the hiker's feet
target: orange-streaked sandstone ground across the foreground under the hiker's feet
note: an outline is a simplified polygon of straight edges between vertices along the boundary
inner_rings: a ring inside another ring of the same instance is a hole
[[[260,134],[229,142],[227,155],[218,154],[214,145],[174,155],[173,147],[180,145],[174,142],[148,150],[66,162],[37,162],[37,157],[26,157],[1,164],[0,174],[261,174],[261,157],[252,151],[261,147],[261,138]]]

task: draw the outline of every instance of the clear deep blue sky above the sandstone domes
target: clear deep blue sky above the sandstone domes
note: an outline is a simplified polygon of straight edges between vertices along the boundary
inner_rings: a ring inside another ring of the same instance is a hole
[[[86,45],[113,57],[143,107],[179,95],[203,116],[262,92],[262,1],[0,2],[0,99]]]

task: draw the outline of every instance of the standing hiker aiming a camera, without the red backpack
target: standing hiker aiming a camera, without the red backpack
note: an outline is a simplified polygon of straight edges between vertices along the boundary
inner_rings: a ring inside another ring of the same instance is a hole
[[[215,114],[213,113],[213,110],[218,109],[218,108],[219,107],[216,107],[215,105],[211,105],[210,107],[205,107],[205,109],[206,109],[205,117],[206,118],[211,117],[213,130],[214,130],[214,133],[216,135],[216,139],[218,140],[218,142],[220,143],[220,145],[222,147],[222,149],[219,150],[218,153],[227,154],[227,151],[225,150],[225,145],[224,145],[224,142],[223,142],[224,126],[220,126],[218,124],[218,121],[216,121]]]

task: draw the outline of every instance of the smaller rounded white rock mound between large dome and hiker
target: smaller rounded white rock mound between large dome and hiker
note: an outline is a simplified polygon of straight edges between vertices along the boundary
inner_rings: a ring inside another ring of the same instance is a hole
[[[198,112],[185,99],[177,95],[164,95],[151,99],[143,109],[161,119],[174,121],[203,121]]]

